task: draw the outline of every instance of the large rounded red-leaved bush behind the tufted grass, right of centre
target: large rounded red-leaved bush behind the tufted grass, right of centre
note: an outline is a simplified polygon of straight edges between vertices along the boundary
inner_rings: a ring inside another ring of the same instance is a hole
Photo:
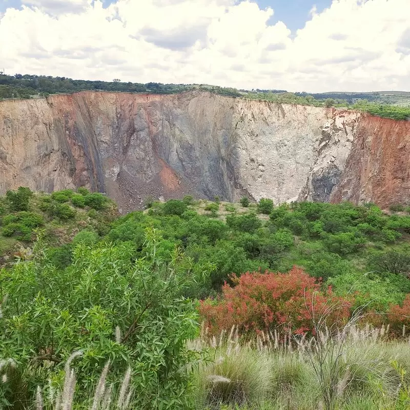
[[[322,290],[320,282],[297,267],[289,273],[247,272],[231,280],[234,286],[225,283],[220,299],[200,302],[199,313],[212,334],[234,324],[242,332],[282,326],[286,332],[306,334],[313,331],[314,320],[343,325],[350,316],[350,300],[337,297],[331,288]]]

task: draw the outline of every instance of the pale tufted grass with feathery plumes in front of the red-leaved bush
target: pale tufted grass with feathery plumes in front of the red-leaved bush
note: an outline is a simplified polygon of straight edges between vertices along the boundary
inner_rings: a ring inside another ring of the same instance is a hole
[[[330,333],[309,340],[261,333],[249,340],[235,331],[219,338],[202,332],[197,343],[209,345],[214,360],[197,373],[196,408],[410,408],[408,339],[389,340],[385,329],[369,326],[351,326],[343,339]]]

